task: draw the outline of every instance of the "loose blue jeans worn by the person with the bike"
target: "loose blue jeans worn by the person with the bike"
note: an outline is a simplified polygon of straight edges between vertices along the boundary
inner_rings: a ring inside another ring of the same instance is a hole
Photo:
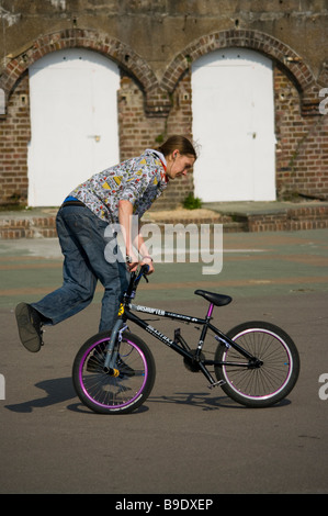
[[[45,324],[55,325],[91,303],[99,280],[104,287],[99,330],[112,329],[128,272],[122,256],[111,262],[104,257],[111,240],[104,236],[108,223],[86,206],[65,206],[57,214],[56,226],[65,257],[64,283],[32,306],[47,319]]]

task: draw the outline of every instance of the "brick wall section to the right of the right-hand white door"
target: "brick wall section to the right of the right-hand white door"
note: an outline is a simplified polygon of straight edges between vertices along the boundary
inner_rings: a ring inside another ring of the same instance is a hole
[[[328,115],[304,116],[299,93],[274,69],[276,187],[283,198],[328,198]]]

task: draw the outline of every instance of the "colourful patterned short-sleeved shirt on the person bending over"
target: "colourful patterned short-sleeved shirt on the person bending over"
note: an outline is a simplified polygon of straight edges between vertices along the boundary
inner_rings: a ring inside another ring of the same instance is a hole
[[[161,159],[160,159],[161,158]],[[166,160],[152,149],[114,167],[95,173],[70,192],[97,216],[110,223],[118,222],[118,202],[133,204],[140,218],[167,187]]]

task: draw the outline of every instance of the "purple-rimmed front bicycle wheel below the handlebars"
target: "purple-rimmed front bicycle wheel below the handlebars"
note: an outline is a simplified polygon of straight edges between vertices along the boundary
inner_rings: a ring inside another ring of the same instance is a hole
[[[127,414],[149,396],[156,378],[155,360],[144,340],[124,332],[116,366],[120,374],[110,375],[103,368],[109,339],[104,332],[82,345],[72,366],[73,386],[81,402],[93,412]]]

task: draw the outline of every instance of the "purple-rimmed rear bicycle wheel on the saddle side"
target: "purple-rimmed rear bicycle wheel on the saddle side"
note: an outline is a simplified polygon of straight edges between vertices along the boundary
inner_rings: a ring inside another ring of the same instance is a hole
[[[239,324],[227,336],[262,361],[259,368],[215,366],[223,391],[234,401],[248,407],[272,406],[295,386],[299,355],[292,338],[279,326],[263,322]],[[231,346],[219,344],[215,352],[218,361],[247,361]]]

